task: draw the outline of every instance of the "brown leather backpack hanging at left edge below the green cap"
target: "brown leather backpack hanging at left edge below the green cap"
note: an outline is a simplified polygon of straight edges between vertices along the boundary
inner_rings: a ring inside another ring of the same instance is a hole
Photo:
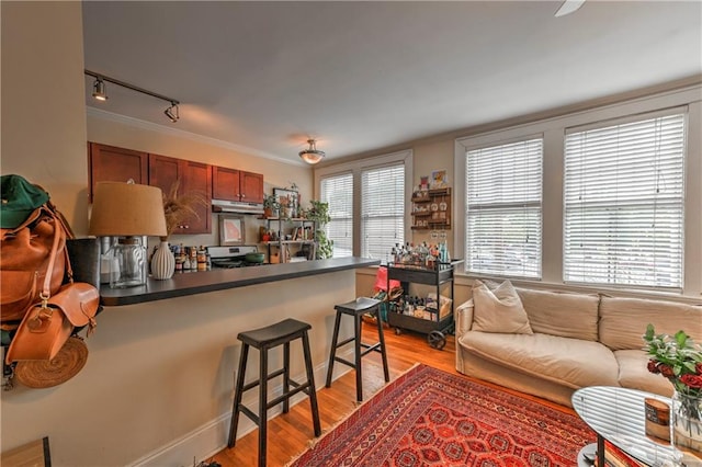
[[[66,238],[72,237],[53,204],[37,207],[24,223],[0,231],[2,329],[19,326],[32,304],[58,292],[66,273]]]

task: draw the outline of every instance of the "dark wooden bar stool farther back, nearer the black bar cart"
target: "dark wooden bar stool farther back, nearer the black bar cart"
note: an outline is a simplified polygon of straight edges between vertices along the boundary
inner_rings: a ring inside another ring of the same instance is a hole
[[[390,380],[389,369],[387,367],[387,354],[385,353],[385,338],[383,335],[383,320],[380,312],[381,301],[374,298],[359,297],[353,301],[347,304],[337,305],[337,318],[333,323],[333,337],[331,339],[331,352],[329,353],[329,365],[327,367],[327,387],[331,387],[331,374],[333,372],[333,362],[343,363],[355,369],[355,398],[360,402],[363,400],[363,377],[361,358],[371,352],[380,352],[383,357],[383,372],[385,374],[385,383]],[[341,322],[342,315],[350,315],[353,317],[353,337],[339,342],[339,324]],[[377,337],[378,342],[374,344],[363,343],[361,341],[361,321],[363,315],[375,315],[375,321],[377,322]],[[337,349],[343,346],[350,342],[353,342],[354,348],[354,362],[349,362],[337,356]],[[365,349],[361,351],[361,349]]]

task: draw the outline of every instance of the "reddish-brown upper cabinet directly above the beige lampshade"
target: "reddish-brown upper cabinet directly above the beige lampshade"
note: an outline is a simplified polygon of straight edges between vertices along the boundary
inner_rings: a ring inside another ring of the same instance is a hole
[[[98,143],[88,144],[88,172],[90,200],[98,182],[127,182],[148,184],[148,155]]]

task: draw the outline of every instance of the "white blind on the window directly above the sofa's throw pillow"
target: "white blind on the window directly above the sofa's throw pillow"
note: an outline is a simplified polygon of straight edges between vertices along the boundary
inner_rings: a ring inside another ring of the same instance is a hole
[[[466,151],[466,271],[541,277],[543,140]]]

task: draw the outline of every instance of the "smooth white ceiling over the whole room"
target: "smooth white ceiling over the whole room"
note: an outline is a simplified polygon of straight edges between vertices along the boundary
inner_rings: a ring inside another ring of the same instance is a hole
[[[299,162],[702,73],[702,2],[83,2],[86,103]]]

